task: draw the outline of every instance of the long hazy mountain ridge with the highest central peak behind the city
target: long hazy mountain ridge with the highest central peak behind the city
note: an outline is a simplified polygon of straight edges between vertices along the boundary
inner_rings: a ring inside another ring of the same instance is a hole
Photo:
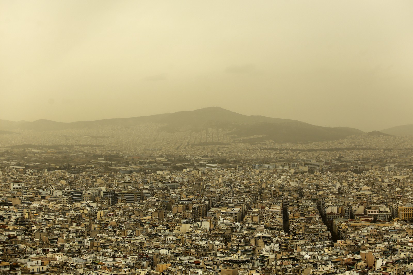
[[[182,111],[134,118],[114,118],[95,121],[55,122],[36,120],[33,122],[0,121],[0,129],[28,129],[37,131],[96,128],[107,125],[130,127],[145,123],[163,125],[160,130],[166,132],[223,129],[230,131],[246,141],[273,140],[282,143],[330,141],[346,136],[363,134],[363,131],[348,127],[321,127],[298,120],[268,118],[259,115],[241,115],[220,107],[208,107],[194,111]],[[258,137],[256,137],[258,136]]]

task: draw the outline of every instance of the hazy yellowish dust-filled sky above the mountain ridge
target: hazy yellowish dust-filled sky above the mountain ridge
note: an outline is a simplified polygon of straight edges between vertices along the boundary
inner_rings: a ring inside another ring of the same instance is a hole
[[[413,1],[0,0],[0,119],[413,124]]]

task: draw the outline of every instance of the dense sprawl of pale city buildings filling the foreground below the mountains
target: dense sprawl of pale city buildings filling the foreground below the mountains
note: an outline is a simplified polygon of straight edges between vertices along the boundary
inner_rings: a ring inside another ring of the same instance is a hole
[[[2,274],[413,273],[411,136],[158,128],[3,134]]]

